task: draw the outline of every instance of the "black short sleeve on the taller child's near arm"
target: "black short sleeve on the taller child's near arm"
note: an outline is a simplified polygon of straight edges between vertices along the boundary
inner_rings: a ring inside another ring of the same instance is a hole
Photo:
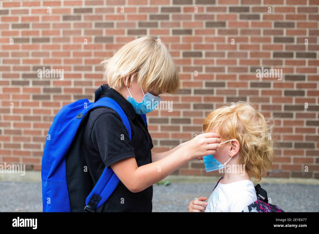
[[[108,168],[117,161],[135,157],[129,134],[115,112],[101,113],[93,123],[90,136],[93,147]]]

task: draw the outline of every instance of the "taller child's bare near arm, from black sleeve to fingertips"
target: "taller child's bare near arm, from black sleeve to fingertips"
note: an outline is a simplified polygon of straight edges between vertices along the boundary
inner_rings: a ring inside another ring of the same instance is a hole
[[[135,158],[127,158],[113,163],[111,168],[126,188],[137,193],[161,181],[189,160],[215,153],[216,149],[220,148],[220,145],[215,143],[220,143],[218,134],[204,133],[150,164],[137,167]]]

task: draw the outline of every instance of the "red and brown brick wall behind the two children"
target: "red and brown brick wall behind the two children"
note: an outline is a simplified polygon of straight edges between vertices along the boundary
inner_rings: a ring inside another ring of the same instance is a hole
[[[40,170],[55,113],[77,99],[93,101],[93,90],[104,83],[99,62],[147,34],[166,43],[182,80],[178,95],[164,96],[173,101],[174,111],[148,115],[155,152],[200,133],[211,109],[248,100],[265,117],[278,116],[274,135],[284,138],[283,148],[269,175],[318,178],[318,4],[318,0],[1,1],[0,162]],[[37,78],[42,67],[64,69],[64,80]],[[261,67],[283,69],[282,81],[256,78]],[[177,173],[207,175],[198,160]]]

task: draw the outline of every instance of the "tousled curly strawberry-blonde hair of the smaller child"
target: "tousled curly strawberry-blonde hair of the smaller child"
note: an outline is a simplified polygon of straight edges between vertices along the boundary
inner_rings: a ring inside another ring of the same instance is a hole
[[[221,142],[237,139],[240,144],[239,164],[256,179],[272,165],[274,141],[271,138],[272,124],[251,104],[238,102],[212,111],[204,120],[204,132],[216,132]]]

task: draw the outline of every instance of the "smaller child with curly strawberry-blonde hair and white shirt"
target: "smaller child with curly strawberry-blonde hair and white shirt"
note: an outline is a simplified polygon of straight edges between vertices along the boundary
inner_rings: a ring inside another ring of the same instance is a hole
[[[219,169],[224,176],[207,203],[206,197],[200,197],[189,202],[188,211],[241,212],[257,200],[250,177],[260,181],[271,167],[270,125],[250,104],[238,102],[211,112],[204,120],[203,130],[219,133],[223,144],[216,154],[204,157],[205,167],[210,171]]]

